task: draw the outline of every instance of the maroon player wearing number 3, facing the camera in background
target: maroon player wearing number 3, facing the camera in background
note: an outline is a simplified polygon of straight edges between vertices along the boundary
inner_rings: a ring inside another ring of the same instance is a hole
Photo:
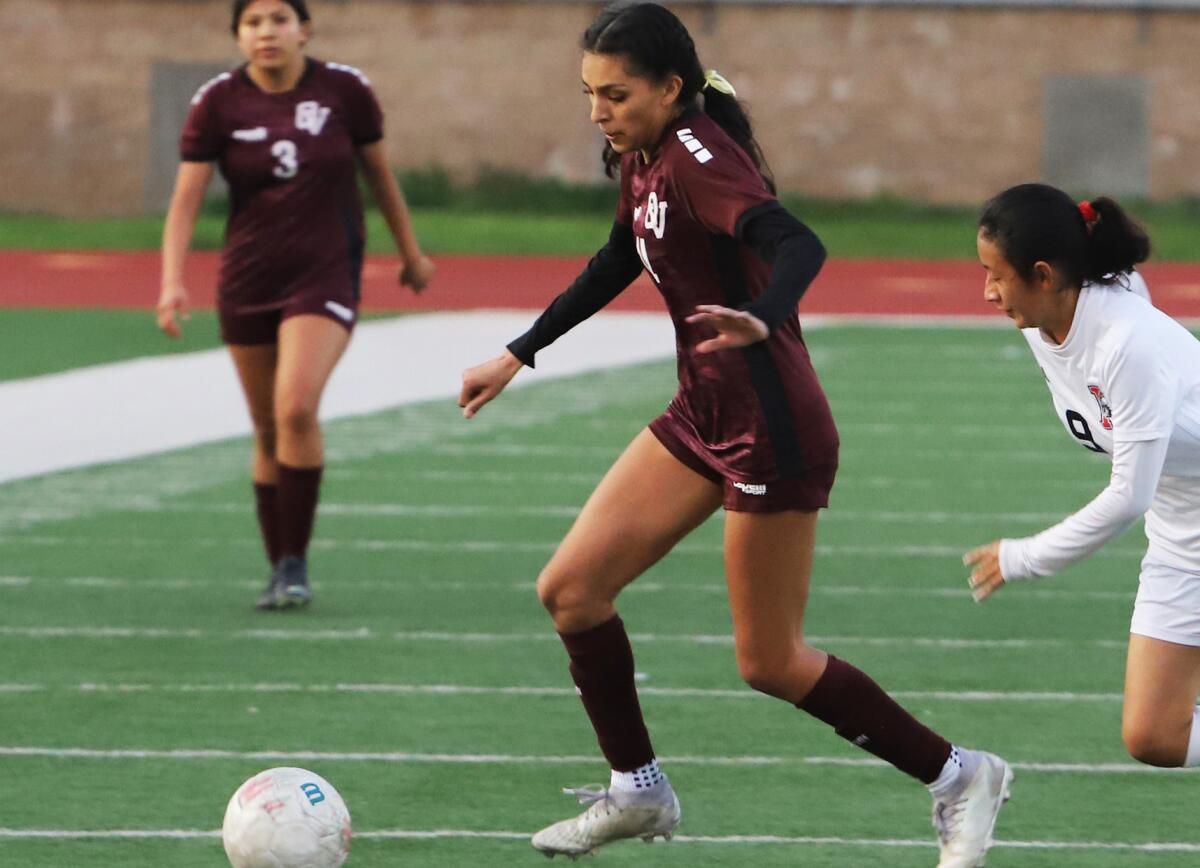
[[[324,465],[317,411],[358,317],[366,232],[356,167],[421,291],[421,253],[358,70],[308,58],[304,0],[234,0],[246,64],[205,84],[181,138],[162,241],[158,325],[180,335],[184,261],[215,166],[229,184],[217,312],[254,427],[252,479],[271,576],[259,609],[312,599],[306,555]]]

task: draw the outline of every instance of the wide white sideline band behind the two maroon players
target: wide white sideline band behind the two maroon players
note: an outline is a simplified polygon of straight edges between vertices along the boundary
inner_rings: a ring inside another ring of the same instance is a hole
[[[335,419],[456,397],[463,369],[494,354],[532,321],[529,312],[468,312],[361,323],[334,372],[320,415]],[[563,343],[569,346],[539,353],[538,361],[545,358],[546,364],[522,371],[514,385],[670,358],[674,330],[662,313],[599,313]],[[64,408],[86,424],[65,420]],[[0,383],[0,483],[250,433],[224,349]]]

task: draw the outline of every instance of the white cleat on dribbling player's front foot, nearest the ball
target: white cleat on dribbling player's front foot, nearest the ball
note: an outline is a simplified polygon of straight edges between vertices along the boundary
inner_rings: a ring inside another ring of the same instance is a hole
[[[577,796],[588,809],[533,837],[530,843],[546,856],[578,858],[623,838],[641,838],[647,844],[655,838],[670,840],[683,815],[666,776],[648,790],[628,792],[593,785],[563,792]]]

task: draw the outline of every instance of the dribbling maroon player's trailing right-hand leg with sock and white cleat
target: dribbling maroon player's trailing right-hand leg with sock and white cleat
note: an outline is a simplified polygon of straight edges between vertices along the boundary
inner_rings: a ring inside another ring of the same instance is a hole
[[[982,866],[1012,772],[997,756],[953,747],[864,672],[805,643],[816,525],[815,511],[726,515],[725,569],[742,677],[926,784],[940,868]]]

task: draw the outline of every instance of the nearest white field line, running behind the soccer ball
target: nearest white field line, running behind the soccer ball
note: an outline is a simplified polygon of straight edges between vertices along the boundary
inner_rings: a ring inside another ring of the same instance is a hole
[[[355,831],[358,840],[526,840],[532,832],[484,831],[470,828],[431,830],[367,830]],[[8,840],[217,840],[220,830],[194,828],[114,828],[114,830],[49,830],[0,828],[0,839]],[[931,840],[912,838],[839,838],[832,836],[677,834],[672,844],[708,845],[786,845],[786,846],[848,846],[848,848],[919,848],[930,849]],[[1121,852],[1200,852],[1200,843],[1190,842],[1102,842],[1102,840],[997,840],[992,849],[1013,850],[1099,850]]]

